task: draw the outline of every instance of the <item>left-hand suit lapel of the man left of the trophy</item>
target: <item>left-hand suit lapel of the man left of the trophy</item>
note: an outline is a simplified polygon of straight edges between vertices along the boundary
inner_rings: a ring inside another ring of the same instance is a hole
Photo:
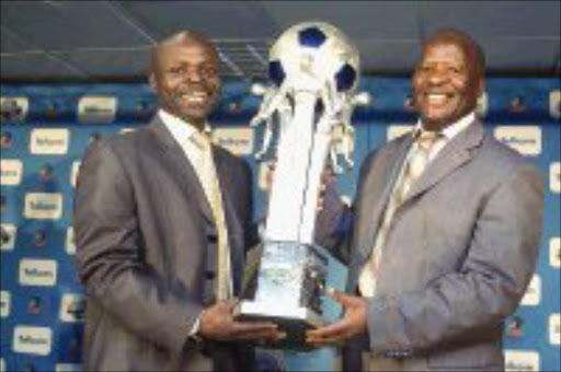
[[[168,162],[172,167],[172,173],[179,175],[180,182],[185,185],[187,197],[192,198],[199,208],[203,217],[214,223],[213,210],[206,199],[205,191],[198,176],[196,174],[193,164],[187,159],[180,144],[172,137],[165,125],[159,119],[158,116],[150,123],[148,129],[156,135],[159,141],[162,156],[167,158]]]

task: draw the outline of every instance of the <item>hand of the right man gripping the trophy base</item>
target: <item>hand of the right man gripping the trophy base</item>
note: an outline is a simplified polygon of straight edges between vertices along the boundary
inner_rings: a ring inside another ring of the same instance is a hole
[[[333,291],[331,297],[343,305],[345,316],[336,323],[308,330],[306,333],[308,344],[314,346],[339,344],[367,330],[367,300],[362,297],[347,295],[340,291]]]

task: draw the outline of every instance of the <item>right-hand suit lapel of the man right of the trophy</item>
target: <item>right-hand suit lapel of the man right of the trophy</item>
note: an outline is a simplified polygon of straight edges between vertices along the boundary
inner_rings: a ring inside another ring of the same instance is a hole
[[[411,186],[402,205],[416,196],[426,193],[430,188],[468,162],[473,155],[470,151],[483,140],[484,129],[480,121],[473,121],[463,131],[458,133],[426,167],[421,177]]]

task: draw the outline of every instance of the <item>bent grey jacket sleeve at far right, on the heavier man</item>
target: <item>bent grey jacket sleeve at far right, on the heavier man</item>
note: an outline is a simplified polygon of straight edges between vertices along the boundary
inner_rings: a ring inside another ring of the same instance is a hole
[[[481,201],[459,270],[422,291],[370,300],[373,351],[410,354],[500,324],[516,310],[535,270],[542,221],[542,179],[518,162]]]

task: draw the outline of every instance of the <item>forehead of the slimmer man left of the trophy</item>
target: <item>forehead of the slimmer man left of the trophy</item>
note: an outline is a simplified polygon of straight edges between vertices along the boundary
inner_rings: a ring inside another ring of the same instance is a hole
[[[218,54],[215,47],[196,38],[185,38],[159,45],[154,50],[154,55],[160,63],[218,63]]]

